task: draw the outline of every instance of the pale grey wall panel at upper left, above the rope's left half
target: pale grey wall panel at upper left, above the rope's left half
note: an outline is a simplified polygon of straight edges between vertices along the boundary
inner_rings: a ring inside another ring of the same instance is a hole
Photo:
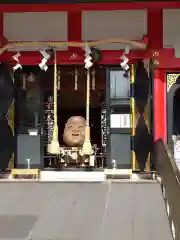
[[[4,36],[9,41],[67,41],[67,13],[5,13]]]

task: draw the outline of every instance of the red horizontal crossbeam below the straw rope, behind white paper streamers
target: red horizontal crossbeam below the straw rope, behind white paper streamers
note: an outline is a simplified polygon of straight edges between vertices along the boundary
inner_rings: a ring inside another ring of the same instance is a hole
[[[123,54],[123,50],[103,50],[102,52],[102,61],[101,64],[120,64],[120,56]],[[158,53],[158,56],[153,56],[154,52]],[[0,56],[0,61],[13,62],[12,56],[14,52],[5,52]],[[158,68],[163,69],[179,69],[180,67],[180,58],[175,58],[174,49],[156,49],[156,51],[152,50],[136,50],[131,51],[130,54],[127,55],[130,60],[135,59],[145,59],[145,58],[153,58],[159,65]],[[42,60],[42,56],[39,52],[21,52],[20,61],[23,65],[34,65],[39,64]],[[58,64],[66,65],[66,64],[84,64],[84,52],[79,51],[57,51],[57,62]],[[51,64],[51,61],[49,61]]]

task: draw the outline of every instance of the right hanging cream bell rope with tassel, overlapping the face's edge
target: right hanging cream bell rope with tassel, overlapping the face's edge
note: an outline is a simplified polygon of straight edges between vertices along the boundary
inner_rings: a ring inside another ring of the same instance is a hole
[[[89,127],[89,114],[90,114],[90,69],[87,69],[87,86],[86,86],[86,127],[85,127],[85,141],[82,147],[82,153],[84,155],[93,154],[91,145],[91,134]]]

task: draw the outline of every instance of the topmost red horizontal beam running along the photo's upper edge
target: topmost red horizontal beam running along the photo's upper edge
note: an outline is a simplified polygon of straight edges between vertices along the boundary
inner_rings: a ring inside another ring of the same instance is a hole
[[[77,4],[1,4],[0,12],[106,11],[180,8],[180,2],[109,2]]]

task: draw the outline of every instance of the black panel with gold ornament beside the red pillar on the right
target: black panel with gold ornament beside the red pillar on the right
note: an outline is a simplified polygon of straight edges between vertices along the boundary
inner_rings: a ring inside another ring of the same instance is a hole
[[[149,131],[149,76],[144,63],[139,61],[135,69],[134,100],[135,100],[135,136],[134,151],[138,169],[144,171],[150,168],[149,154],[151,151],[151,135]]]

